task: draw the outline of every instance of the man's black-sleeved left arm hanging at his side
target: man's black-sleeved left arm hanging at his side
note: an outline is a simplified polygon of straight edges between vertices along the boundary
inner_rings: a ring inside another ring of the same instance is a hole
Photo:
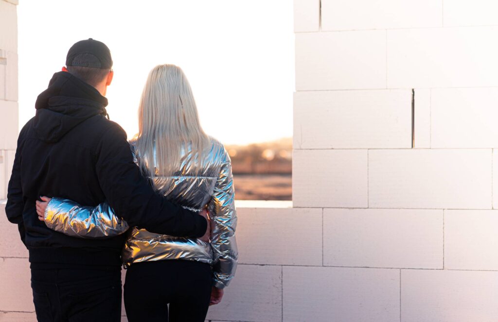
[[[19,138],[17,139],[17,149],[15,150],[14,165],[12,167],[12,174],[10,175],[10,180],[8,182],[7,205],[5,206],[5,214],[7,215],[8,221],[17,224],[19,235],[21,236],[22,242],[24,242],[25,229],[22,219],[24,200],[22,198],[20,171],[22,150],[21,134],[19,134]]]

